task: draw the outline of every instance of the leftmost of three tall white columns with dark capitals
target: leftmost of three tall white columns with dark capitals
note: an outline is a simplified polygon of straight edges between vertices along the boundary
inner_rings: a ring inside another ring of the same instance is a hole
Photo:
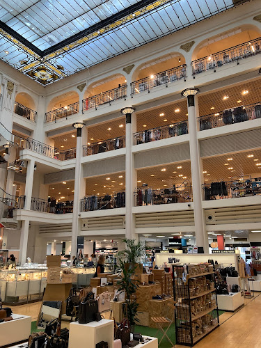
[[[80,200],[80,184],[81,184],[81,128],[77,128],[77,145],[76,145],[76,162],[74,176],[74,200],[72,214],[72,248],[71,248],[71,264],[72,256],[77,256],[77,237],[79,228],[79,200]]]

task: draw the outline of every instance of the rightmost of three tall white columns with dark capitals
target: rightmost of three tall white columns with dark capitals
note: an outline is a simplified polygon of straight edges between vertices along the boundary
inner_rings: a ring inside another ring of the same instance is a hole
[[[193,191],[194,221],[196,232],[196,246],[204,248],[204,253],[208,253],[208,239],[205,225],[205,216],[202,208],[203,189],[202,189],[202,162],[200,159],[200,146],[197,139],[197,117],[198,101],[197,95],[188,97],[189,114],[189,149],[191,159],[191,179]]]

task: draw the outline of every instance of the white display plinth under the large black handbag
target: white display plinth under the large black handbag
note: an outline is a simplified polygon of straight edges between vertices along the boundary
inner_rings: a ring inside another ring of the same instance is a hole
[[[79,348],[85,345],[88,348],[95,348],[101,341],[108,342],[108,347],[113,348],[114,322],[109,319],[102,319],[100,322],[79,324],[70,323],[69,348]],[[136,346],[138,347],[138,346]]]

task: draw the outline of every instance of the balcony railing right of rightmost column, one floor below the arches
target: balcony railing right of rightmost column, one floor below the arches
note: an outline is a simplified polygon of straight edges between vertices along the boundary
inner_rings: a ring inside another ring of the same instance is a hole
[[[201,116],[198,118],[198,122],[201,131],[248,120],[255,120],[256,118],[261,118],[261,102],[246,106],[235,106],[235,108]]]

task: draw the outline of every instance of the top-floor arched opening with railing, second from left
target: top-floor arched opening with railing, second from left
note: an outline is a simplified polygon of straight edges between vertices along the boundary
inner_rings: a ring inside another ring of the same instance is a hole
[[[74,90],[54,97],[47,106],[45,122],[56,121],[79,112],[79,94]]]

